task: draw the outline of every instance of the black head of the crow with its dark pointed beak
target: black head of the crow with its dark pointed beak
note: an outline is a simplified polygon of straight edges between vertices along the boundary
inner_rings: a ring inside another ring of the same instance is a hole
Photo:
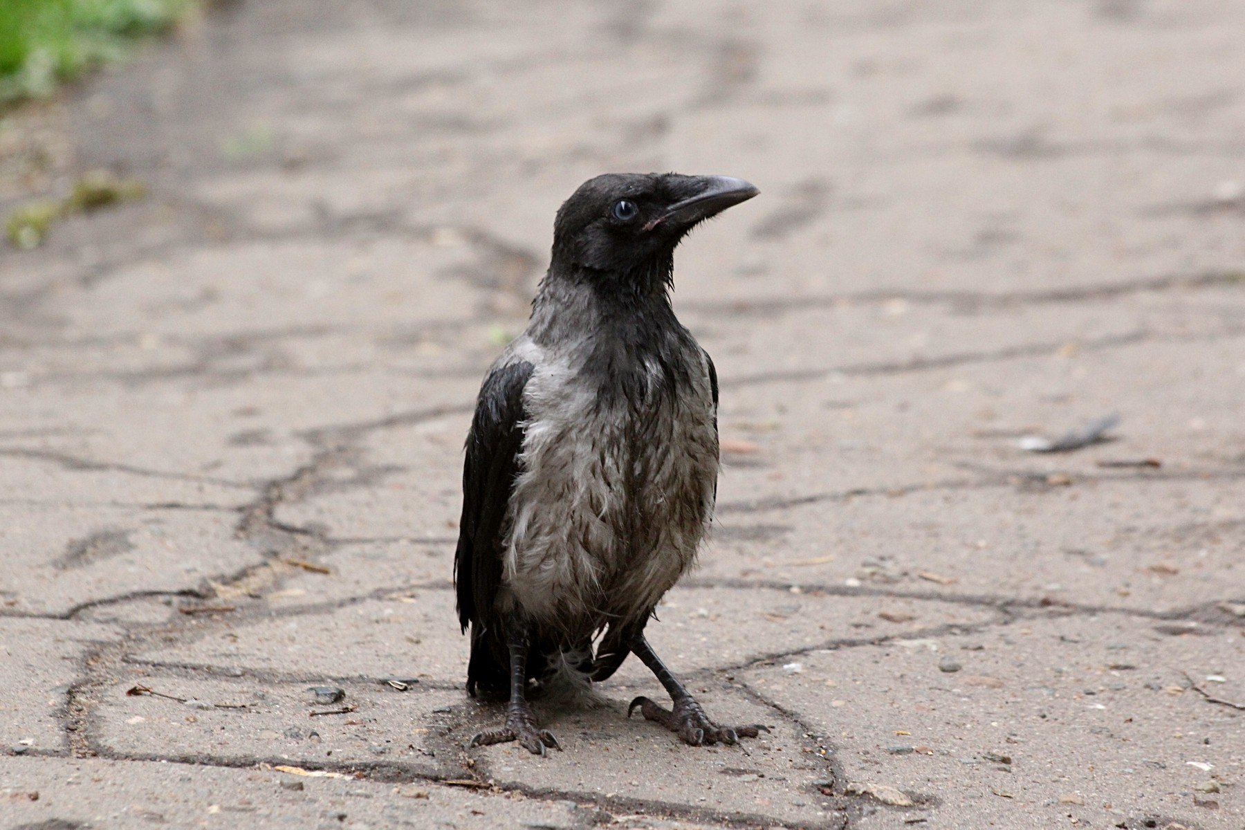
[[[726,175],[598,175],[558,210],[554,268],[595,271],[610,282],[657,273],[669,280],[675,246],[688,230],[757,193]]]

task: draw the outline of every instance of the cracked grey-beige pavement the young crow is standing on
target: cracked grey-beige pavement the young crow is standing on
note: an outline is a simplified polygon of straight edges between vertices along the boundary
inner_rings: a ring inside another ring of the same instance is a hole
[[[244,0],[10,118],[60,178],[0,207],[151,197],[0,250],[0,825],[1245,828],[1243,30]],[[773,732],[682,747],[627,663],[466,753],[461,443],[611,169],[762,189],[679,256],[727,465],[652,637]]]

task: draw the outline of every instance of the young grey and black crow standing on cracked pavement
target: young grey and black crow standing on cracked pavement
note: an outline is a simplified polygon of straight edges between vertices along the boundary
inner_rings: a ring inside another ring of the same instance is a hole
[[[468,745],[560,749],[528,682],[586,691],[629,653],[672,701],[637,697],[629,714],[693,745],[758,734],[710,720],[644,637],[717,494],[717,375],[670,307],[675,246],[756,194],[727,177],[606,174],[558,210],[532,319],[484,378],[467,436],[454,556],[467,689],[509,694],[505,723]]]

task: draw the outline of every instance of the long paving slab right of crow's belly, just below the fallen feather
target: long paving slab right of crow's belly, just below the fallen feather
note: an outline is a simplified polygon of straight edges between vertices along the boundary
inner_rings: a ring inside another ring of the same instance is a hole
[[[1163,615],[1245,596],[1240,523],[1214,480],[934,485],[728,514],[700,579]]]

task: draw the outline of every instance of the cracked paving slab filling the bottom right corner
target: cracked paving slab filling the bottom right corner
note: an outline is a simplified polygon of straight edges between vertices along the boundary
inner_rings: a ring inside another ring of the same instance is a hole
[[[842,791],[880,784],[914,803],[860,826],[920,816],[959,826],[971,815],[997,826],[1234,828],[1245,818],[1245,717],[1205,694],[1240,699],[1245,637],[1204,633],[1078,613],[820,652],[799,674],[745,677],[837,744]]]

